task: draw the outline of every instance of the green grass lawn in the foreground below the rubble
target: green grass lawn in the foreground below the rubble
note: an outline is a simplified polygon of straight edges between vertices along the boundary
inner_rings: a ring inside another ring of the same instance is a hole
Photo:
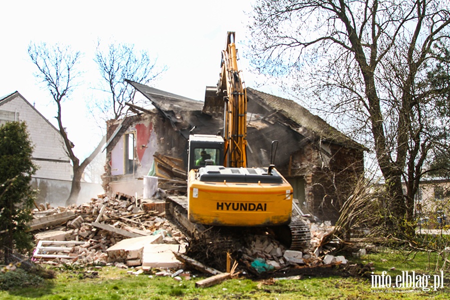
[[[429,260],[426,253],[419,253],[413,259],[404,261],[404,253],[385,250],[352,259],[349,263],[372,261],[376,274],[386,271],[394,277],[402,270],[433,274],[435,259],[435,255]],[[128,274],[126,270],[115,267],[93,269],[98,272],[96,276],[90,276],[92,273],[88,270],[58,269],[56,277],[45,279],[43,285],[0,291],[0,299],[447,299],[450,293],[448,271],[448,274],[445,273],[447,281],[444,289],[420,293],[374,293],[370,278],[364,277],[303,275],[301,279],[254,281],[238,278],[208,288],[196,288],[195,281],[202,277],[178,282],[171,277]]]

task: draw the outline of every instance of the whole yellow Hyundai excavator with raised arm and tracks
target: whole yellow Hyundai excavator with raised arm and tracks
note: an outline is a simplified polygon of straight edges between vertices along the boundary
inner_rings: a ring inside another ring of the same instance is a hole
[[[166,214],[188,235],[199,236],[209,226],[267,227],[287,247],[303,249],[309,244],[309,226],[292,218],[292,186],[273,165],[277,142],[272,142],[269,166],[246,165],[247,97],[234,35],[227,32],[216,97],[211,100],[224,107],[223,137],[189,135],[187,203],[170,197]]]

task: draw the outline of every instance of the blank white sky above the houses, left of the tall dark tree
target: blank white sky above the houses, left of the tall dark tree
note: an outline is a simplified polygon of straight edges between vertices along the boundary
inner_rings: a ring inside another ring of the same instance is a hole
[[[157,57],[167,71],[153,87],[203,100],[206,85],[217,82],[220,51],[227,31],[236,31],[239,67],[246,86],[256,87],[244,59],[248,13],[253,0],[15,0],[0,8],[0,96],[18,91],[51,123],[56,108],[48,90],[33,76],[30,42],[62,43],[83,52],[80,68],[84,83],[63,103],[63,125],[74,142],[74,152],[87,156],[100,140],[104,128],[89,120],[86,101],[99,72],[92,61],[97,39],[132,43]],[[271,87],[259,88],[273,92]],[[267,90],[270,89],[270,90]]]

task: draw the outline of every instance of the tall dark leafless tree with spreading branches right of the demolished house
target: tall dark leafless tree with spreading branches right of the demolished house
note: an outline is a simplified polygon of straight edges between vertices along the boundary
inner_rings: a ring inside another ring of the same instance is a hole
[[[450,129],[437,109],[442,90],[423,84],[433,46],[448,43],[447,4],[257,0],[253,8],[253,63],[262,73],[291,75],[297,91],[339,113],[371,145],[389,196],[387,223],[412,233],[419,179]]]

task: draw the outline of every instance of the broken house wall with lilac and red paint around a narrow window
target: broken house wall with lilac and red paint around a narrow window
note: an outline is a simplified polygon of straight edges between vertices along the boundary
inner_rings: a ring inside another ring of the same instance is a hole
[[[128,116],[116,134],[115,143],[106,148],[105,174],[102,176],[106,192],[143,195],[143,177],[149,174],[156,152],[184,158],[186,140],[169,122],[154,113]],[[108,138],[117,130],[117,123],[107,124]],[[123,125],[123,124],[126,124]],[[130,147],[130,145],[133,145]]]

